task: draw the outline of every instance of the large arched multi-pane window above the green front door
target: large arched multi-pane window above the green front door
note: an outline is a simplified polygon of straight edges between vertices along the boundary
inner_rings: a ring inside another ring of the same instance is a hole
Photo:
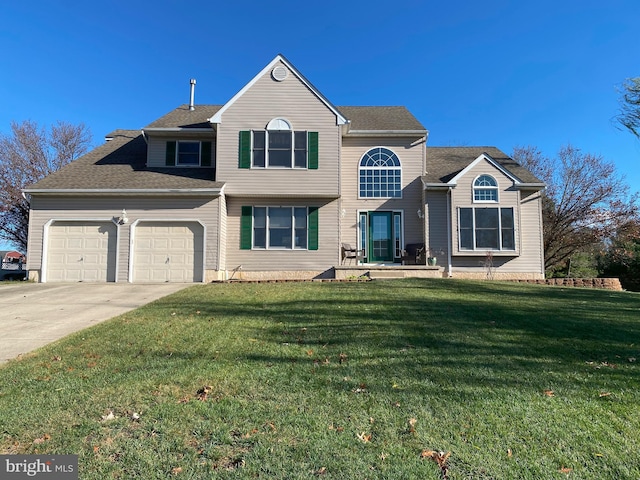
[[[400,159],[388,148],[369,150],[360,160],[360,198],[400,198]]]

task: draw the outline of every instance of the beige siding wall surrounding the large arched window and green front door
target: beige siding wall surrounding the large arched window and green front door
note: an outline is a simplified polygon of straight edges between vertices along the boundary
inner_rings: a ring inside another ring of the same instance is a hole
[[[398,155],[402,167],[402,198],[358,198],[359,166],[362,156],[371,148],[386,147]],[[345,137],[342,141],[341,193],[344,211],[341,242],[357,244],[359,211],[401,211],[404,243],[424,242],[424,221],[418,217],[422,208],[424,173],[424,141],[411,138]]]

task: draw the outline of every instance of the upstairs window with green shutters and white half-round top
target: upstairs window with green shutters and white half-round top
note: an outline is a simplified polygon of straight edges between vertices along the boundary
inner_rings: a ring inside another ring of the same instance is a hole
[[[274,118],[266,130],[240,132],[240,168],[318,168],[318,132]]]

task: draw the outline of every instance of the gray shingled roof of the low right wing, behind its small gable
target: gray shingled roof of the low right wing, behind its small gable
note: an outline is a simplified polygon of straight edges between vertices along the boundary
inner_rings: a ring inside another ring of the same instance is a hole
[[[496,147],[427,147],[427,172],[422,179],[425,183],[448,183],[483,153],[489,155],[521,182],[543,183]]]

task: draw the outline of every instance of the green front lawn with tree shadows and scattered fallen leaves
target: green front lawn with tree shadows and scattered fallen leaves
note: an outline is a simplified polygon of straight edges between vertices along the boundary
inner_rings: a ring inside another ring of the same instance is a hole
[[[452,480],[638,479],[639,362],[637,294],[194,286],[0,368],[0,453],[79,454],[82,479],[443,478],[424,450]]]

